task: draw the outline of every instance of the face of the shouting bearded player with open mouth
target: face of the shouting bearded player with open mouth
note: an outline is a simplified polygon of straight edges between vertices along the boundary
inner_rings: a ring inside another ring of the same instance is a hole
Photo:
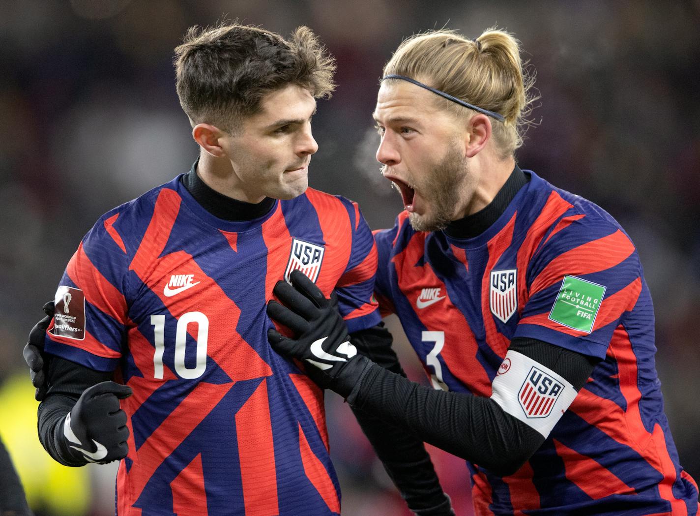
[[[374,109],[377,160],[393,181],[417,231],[435,231],[463,216],[475,179],[464,155],[464,130],[435,94],[406,81],[384,81]]]

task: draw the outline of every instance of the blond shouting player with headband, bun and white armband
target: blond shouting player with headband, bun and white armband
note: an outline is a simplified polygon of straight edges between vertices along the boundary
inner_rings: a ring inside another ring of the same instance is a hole
[[[479,515],[696,515],[635,247],[514,160],[531,84],[498,30],[416,35],[384,68],[377,160],[405,211],[375,235],[376,292],[435,389],[339,353],[342,320],[297,274],[275,288],[291,309],[268,307],[295,338],[270,342],[320,364],[351,405],[466,459]]]

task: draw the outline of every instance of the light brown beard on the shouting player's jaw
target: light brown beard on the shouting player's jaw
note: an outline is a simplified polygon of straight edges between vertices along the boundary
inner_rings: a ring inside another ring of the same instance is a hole
[[[463,194],[471,190],[475,181],[469,173],[469,164],[456,141],[451,141],[447,152],[435,168],[427,174],[423,184],[416,185],[421,197],[430,207],[428,214],[409,214],[409,223],[416,231],[439,231],[453,220]]]

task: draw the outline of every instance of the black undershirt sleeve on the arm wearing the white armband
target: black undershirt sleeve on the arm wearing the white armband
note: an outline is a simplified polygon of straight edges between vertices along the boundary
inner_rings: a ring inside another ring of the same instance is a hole
[[[597,361],[532,339],[514,339],[510,349],[558,373],[577,391]],[[517,471],[545,440],[491,398],[437,391],[366,358],[360,357],[357,362],[356,368],[363,368],[363,372],[347,396],[352,407],[402,426],[421,440],[497,475]]]

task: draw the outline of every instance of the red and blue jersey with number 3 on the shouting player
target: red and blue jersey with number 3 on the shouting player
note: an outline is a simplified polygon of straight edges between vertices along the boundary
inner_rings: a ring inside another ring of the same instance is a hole
[[[398,314],[436,388],[491,396],[514,337],[601,359],[517,473],[468,463],[477,514],[696,515],[698,489],[664,415],[637,251],[603,209],[526,174],[477,237],[416,232],[405,211],[375,234],[379,305]]]

